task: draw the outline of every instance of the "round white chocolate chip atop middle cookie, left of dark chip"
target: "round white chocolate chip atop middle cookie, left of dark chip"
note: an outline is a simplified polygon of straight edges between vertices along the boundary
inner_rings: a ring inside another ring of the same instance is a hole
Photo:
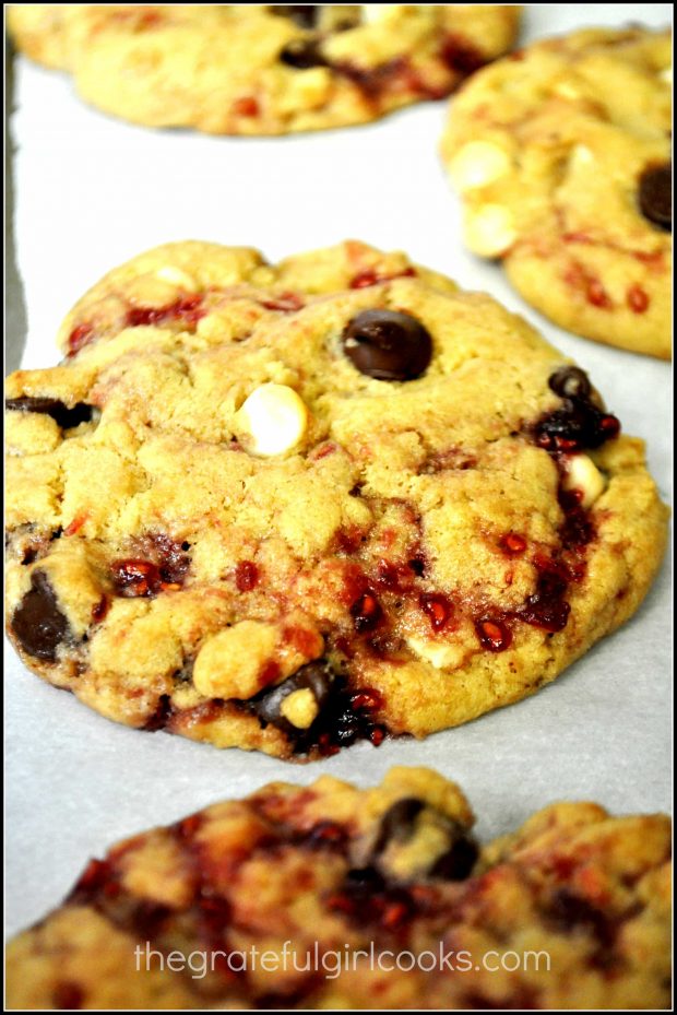
[[[308,426],[308,410],[294,388],[265,383],[251,392],[236,414],[254,455],[283,455],[296,447]]]

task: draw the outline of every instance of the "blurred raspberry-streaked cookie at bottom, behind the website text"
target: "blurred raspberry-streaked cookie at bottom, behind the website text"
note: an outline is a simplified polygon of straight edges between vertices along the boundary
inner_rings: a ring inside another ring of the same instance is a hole
[[[556,803],[484,847],[473,821],[394,768],[134,836],[10,943],[9,1007],[669,1006],[667,816]]]

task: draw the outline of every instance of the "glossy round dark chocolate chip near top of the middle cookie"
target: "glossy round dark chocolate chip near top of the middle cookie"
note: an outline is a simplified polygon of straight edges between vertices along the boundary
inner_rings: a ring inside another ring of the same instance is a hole
[[[377,380],[413,380],[432,356],[427,329],[397,310],[363,310],[343,332],[343,347],[360,374]]]

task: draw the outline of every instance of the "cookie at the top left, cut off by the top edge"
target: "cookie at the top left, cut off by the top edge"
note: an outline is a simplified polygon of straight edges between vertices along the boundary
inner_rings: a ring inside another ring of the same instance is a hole
[[[513,43],[500,4],[16,4],[16,45],[147,127],[281,134],[442,98]]]

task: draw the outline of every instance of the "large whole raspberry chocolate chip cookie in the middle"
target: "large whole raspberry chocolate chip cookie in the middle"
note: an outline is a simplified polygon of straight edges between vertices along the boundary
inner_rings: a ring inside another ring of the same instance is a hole
[[[9,633],[104,716],[314,758],[551,681],[639,605],[666,511],[586,375],[357,241],[179,243],[8,379]]]

